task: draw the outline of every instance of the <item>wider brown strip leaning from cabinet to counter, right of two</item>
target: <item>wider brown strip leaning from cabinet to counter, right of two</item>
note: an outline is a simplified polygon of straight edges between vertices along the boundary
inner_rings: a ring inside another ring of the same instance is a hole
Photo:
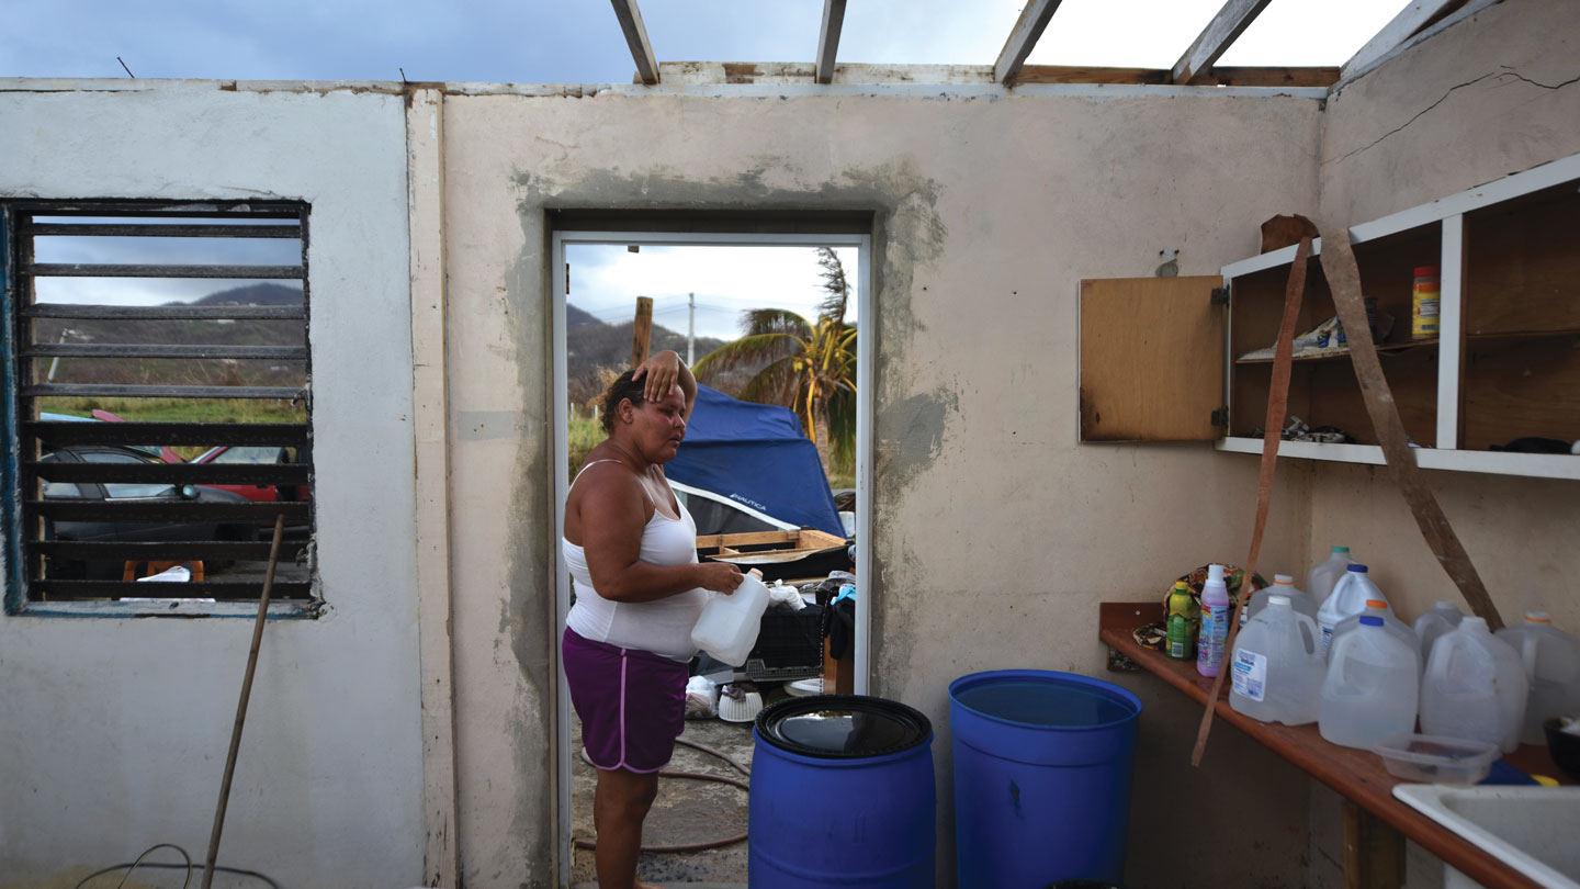
[[[1471,612],[1487,619],[1493,630],[1503,626],[1498,607],[1487,595],[1476,566],[1460,544],[1460,538],[1449,525],[1449,517],[1438,506],[1427,479],[1416,465],[1416,452],[1409,448],[1405,435],[1405,424],[1398,418],[1398,407],[1394,403],[1394,392],[1387,378],[1382,376],[1382,364],[1378,361],[1376,348],[1371,345],[1371,329],[1367,326],[1367,308],[1360,297],[1360,269],[1356,266],[1356,253],[1349,245],[1349,229],[1340,225],[1324,225],[1322,228],[1322,275],[1327,277],[1327,288],[1334,294],[1334,305],[1338,308],[1338,321],[1345,326],[1349,339],[1349,361],[1356,365],[1356,381],[1360,383],[1360,395],[1367,402],[1367,413],[1371,416],[1371,430],[1382,446],[1382,457],[1387,460],[1389,475],[1398,486],[1409,511],[1420,525],[1420,535],[1427,538],[1427,546],[1438,557],[1438,565],[1449,574],[1454,585],[1460,588]]]

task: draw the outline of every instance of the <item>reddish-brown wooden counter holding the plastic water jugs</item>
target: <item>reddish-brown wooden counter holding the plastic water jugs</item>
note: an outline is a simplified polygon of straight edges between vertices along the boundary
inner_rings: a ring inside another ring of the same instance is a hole
[[[1176,661],[1161,652],[1142,649],[1131,630],[1163,619],[1163,604],[1157,600],[1142,603],[1101,603],[1098,637],[1141,664],[1147,672],[1163,679],[1187,698],[1206,706],[1212,693],[1212,680],[1196,672],[1194,661]],[[1313,778],[1322,781],[1345,799],[1365,808],[1390,824],[1405,837],[1414,840],[1431,854],[1454,865],[1462,873],[1488,889],[1534,889],[1536,883],[1493,856],[1465,842],[1458,834],[1394,799],[1398,778],[1389,775],[1382,759],[1368,750],[1352,750],[1322,740],[1316,724],[1285,726],[1261,723],[1229,707],[1229,685],[1213,710],[1217,718],[1248,734],[1273,753],[1299,766]],[[1180,750],[1180,758],[1188,756]],[[1552,775],[1561,783],[1569,781],[1553,764],[1545,747],[1522,745],[1504,756],[1514,767],[1526,774]]]

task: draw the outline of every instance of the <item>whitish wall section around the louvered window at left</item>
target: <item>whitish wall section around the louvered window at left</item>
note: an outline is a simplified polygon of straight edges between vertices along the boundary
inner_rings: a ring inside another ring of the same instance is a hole
[[[38,92],[62,87],[77,92]],[[6,81],[0,120],[0,196],[311,202],[329,607],[264,631],[220,862],[303,889],[414,884],[423,816],[400,96]],[[70,889],[160,842],[202,861],[251,630],[240,619],[0,617],[0,886]]]

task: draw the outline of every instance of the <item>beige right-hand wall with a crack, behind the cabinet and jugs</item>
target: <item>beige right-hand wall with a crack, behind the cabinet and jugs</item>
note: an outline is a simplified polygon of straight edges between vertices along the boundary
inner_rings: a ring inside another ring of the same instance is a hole
[[[1492,6],[1346,85],[1322,115],[1322,215],[1348,225],[1580,152],[1580,5]],[[1580,482],[1428,473],[1504,620],[1528,607],[1580,628]],[[1381,467],[1321,463],[1308,550],[1348,543],[1408,620],[1439,598],[1465,607]],[[1338,807],[1313,794],[1311,886],[1341,883]],[[1411,886],[1441,880],[1411,853]]]

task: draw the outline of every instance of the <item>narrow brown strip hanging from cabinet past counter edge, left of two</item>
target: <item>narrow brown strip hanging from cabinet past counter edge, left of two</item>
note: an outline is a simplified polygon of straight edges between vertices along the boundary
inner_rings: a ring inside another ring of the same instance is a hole
[[[1300,318],[1300,301],[1305,297],[1305,266],[1311,256],[1311,239],[1302,237],[1294,250],[1294,264],[1289,266],[1289,283],[1285,285],[1285,315],[1278,324],[1278,342],[1273,346],[1273,376],[1267,388],[1267,422],[1262,426],[1262,467],[1256,479],[1256,522],[1251,525],[1251,552],[1245,557],[1245,574],[1240,579],[1239,607],[1251,601],[1256,587],[1256,557],[1262,549],[1262,532],[1267,528],[1267,508],[1273,495],[1273,468],[1278,465],[1278,443],[1283,440],[1285,410],[1289,407],[1289,373],[1294,362],[1294,326]],[[1239,614],[1239,612],[1236,612]],[[1196,747],[1190,753],[1190,764],[1201,766],[1201,756],[1207,750],[1207,732],[1212,731],[1212,717],[1223,693],[1223,679],[1229,675],[1234,639],[1240,634],[1240,622],[1229,622],[1229,636],[1223,642],[1223,661],[1218,664],[1218,677],[1212,680],[1212,694],[1207,696],[1207,707],[1201,713],[1201,726],[1196,729]]]

